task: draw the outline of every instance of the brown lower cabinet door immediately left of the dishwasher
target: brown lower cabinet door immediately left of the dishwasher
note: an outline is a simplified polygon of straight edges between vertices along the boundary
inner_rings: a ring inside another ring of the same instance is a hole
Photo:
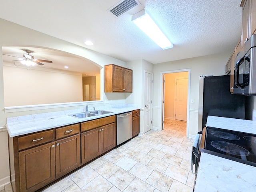
[[[101,128],[101,153],[116,147],[116,123],[105,125]]]

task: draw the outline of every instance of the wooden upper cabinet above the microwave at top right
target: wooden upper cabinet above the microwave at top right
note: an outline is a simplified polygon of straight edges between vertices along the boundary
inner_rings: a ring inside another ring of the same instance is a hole
[[[256,31],[256,1],[242,0],[240,6],[243,8],[241,36],[241,47],[243,47]]]

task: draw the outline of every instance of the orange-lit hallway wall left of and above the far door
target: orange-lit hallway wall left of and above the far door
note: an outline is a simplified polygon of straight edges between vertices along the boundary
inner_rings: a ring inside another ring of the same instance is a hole
[[[188,78],[188,72],[165,74],[164,118],[174,120],[174,83],[177,78]]]

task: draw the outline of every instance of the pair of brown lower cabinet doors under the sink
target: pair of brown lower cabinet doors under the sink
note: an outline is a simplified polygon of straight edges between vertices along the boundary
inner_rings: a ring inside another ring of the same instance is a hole
[[[116,123],[81,133],[82,164],[116,146]]]

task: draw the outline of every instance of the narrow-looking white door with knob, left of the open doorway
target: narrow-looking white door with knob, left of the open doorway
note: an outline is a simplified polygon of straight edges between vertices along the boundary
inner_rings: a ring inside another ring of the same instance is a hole
[[[152,76],[148,72],[144,74],[144,133],[152,128]]]

